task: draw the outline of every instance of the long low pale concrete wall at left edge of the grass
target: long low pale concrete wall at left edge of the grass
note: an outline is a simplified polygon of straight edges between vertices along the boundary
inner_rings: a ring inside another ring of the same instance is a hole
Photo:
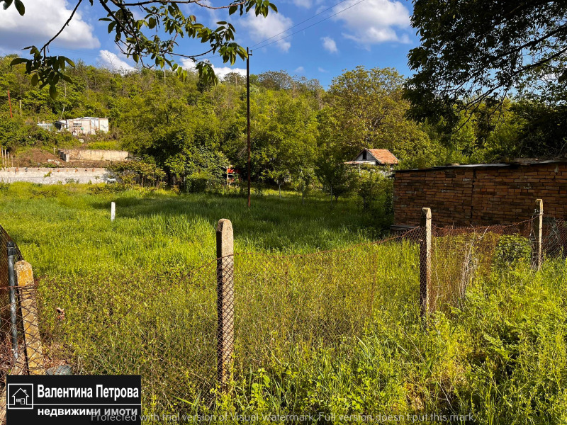
[[[107,183],[111,174],[107,169],[101,168],[24,168],[12,167],[0,169],[0,182],[13,183],[27,181],[28,183],[67,183],[73,180],[78,183]]]

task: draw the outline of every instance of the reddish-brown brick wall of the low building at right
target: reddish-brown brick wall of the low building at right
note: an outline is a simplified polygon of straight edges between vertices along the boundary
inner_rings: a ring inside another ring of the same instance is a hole
[[[394,225],[419,225],[421,209],[433,224],[512,224],[544,214],[567,218],[567,162],[447,166],[395,172]]]

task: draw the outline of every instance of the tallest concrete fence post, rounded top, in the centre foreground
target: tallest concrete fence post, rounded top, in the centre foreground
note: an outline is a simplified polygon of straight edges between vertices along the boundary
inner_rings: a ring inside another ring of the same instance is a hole
[[[217,379],[223,390],[230,380],[235,344],[234,236],[230,220],[217,225]]]

